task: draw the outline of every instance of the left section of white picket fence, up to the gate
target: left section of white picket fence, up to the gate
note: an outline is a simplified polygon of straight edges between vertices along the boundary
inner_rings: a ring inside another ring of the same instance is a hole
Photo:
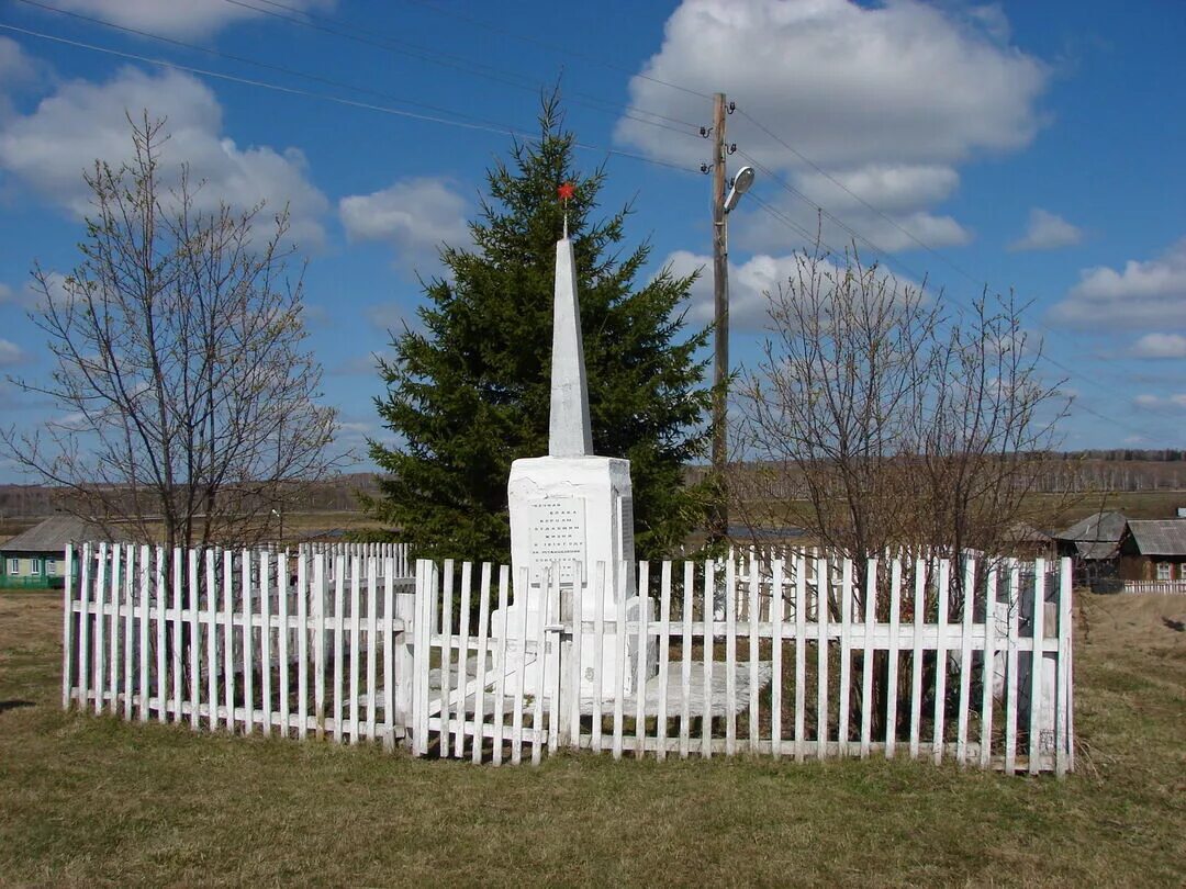
[[[390,544],[70,548],[63,705],[391,744],[410,711],[401,696],[410,685],[398,680],[412,673],[401,645],[413,607],[407,562]]]

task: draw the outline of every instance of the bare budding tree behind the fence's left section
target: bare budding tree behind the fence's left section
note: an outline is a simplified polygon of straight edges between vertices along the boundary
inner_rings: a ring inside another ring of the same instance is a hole
[[[288,277],[288,213],[261,237],[262,205],[200,209],[185,166],[164,184],[164,121],[129,123],[133,159],[84,174],[82,261],[64,280],[33,273],[55,367],[14,382],[62,415],[0,437],[66,509],[120,537],[250,543],[286,494],[337,463],[301,271]]]

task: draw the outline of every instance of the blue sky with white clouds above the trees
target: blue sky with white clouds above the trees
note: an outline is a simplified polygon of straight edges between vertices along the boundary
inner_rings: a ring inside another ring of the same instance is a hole
[[[696,128],[722,90],[731,168],[763,167],[731,222],[735,363],[754,359],[761,294],[803,244],[786,222],[814,230],[822,206],[829,244],[855,231],[954,302],[984,284],[1032,301],[1044,372],[1075,395],[1066,448],[1186,446],[1179,0],[2,0],[0,25],[2,372],[49,370],[28,273],[76,262],[81,172],[127,153],[125,109],[168,117],[171,159],[211,197],[289,203],[325,397],[357,444],[384,436],[372,353],[414,319],[436,245],[465,243],[484,172],[509,130],[534,132],[541,90],[560,83],[582,164],[606,165],[606,207],[633,200],[629,238],[680,270],[710,250]],[[693,319],[709,296],[706,277]],[[53,412],[9,384],[0,410],[19,427]]]

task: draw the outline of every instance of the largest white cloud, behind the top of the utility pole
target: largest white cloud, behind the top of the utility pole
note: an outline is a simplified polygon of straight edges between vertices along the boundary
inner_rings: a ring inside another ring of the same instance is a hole
[[[917,248],[914,238],[931,247],[962,244],[970,234],[958,222],[929,212],[958,186],[956,165],[1021,148],[1041,124],[1037,101],[1047,69],[1007,39],[999,8],[937,8],[917,0],[684,0],[630,94],[638,108],[699,122],[708,113],[704,100],[658,81],[701,94],[723,90],[740,111],[728,117],[728,141],[744,152],[737,162],[752,158],[785,173],[810,200],[882,249]],[[689,166],[700,164],[704,149],[630,117],[618,121],[616,139]],[[806,228],[814,231],[815,223]]]

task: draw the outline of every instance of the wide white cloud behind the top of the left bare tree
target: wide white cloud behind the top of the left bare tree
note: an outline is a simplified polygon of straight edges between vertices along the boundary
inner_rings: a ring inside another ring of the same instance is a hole
[[[129,159],[126,115],[139,119],[145,110],[151,119],[167,119],[170,139],[160,149],[164,185],[172,185],[178,167],[187,162],[191,178],[205,180],[199,209],[212,209],[219,200],[240,209],[266,200],[272,213],[287,204],[292,238],[307,249],[321,244],[320,217],[329,203],[310,181],[304,154],[296,148],[240,148],[223,134],[213,92],[177,71],[149,75],[125,68],[106,83],[63,84],[32,114],[0,130],[0,168],[82,217],[91,210],[83,171],[93,168],[96,158],[113,166]]]

